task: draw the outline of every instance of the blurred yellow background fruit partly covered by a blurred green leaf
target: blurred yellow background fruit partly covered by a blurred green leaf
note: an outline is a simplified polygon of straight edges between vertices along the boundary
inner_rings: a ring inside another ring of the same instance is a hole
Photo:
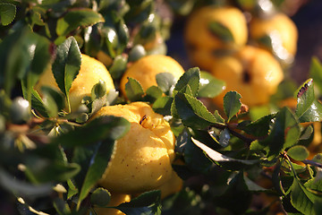
[[[209,28],[211,22],[219,22],[230,30],[233,41],[225,42],[212,33]],[[218,50],[231,52],[246,44],[247,22],[242,11],[235,7],[202,7],[188,19],[184,39],[192,64],[209,71],[218,58]]]

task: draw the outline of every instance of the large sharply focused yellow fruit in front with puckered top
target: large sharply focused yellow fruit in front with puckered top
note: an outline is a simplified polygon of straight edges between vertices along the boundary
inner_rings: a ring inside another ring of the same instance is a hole
[[[144,102],[102,107],[93,118],[106,115],[123,116],[131,129],[117,140],[98,184],[114,193],[142,193],[165,184],[172,176],[175,139],[164,117]]]

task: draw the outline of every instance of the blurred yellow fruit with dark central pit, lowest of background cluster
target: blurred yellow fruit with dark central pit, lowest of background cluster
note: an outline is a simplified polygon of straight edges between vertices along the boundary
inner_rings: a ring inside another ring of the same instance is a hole
[[[280,64],[269,52],[257,47],[244,47],[235,56],[226,56],[214,64],[211,73],[225,81],[226,88],[214,101],[223,105],[227,91],[242,95],[242,103],[248,106],[267,104],[270,96],[284,79]]]

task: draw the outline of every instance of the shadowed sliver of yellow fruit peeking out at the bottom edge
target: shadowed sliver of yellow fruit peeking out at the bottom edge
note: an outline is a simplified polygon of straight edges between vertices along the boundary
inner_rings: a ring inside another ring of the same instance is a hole
[[[118,206],[123,202],[130,202],[131,196],[128,194],[119,194],[119,193],[112,193],[111,201],[108,203],[107,207],[114,207]],[[122,211],[113,208],[95,208],[97,215],[123,215]]]

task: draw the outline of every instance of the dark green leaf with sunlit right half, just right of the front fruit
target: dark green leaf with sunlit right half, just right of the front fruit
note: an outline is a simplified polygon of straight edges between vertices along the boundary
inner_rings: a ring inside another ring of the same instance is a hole
[[[216,123],[215,116],[208,111],[199,99],[178,92],[174,97],[174,104],[183,125],[195,129],[204,129]]]

